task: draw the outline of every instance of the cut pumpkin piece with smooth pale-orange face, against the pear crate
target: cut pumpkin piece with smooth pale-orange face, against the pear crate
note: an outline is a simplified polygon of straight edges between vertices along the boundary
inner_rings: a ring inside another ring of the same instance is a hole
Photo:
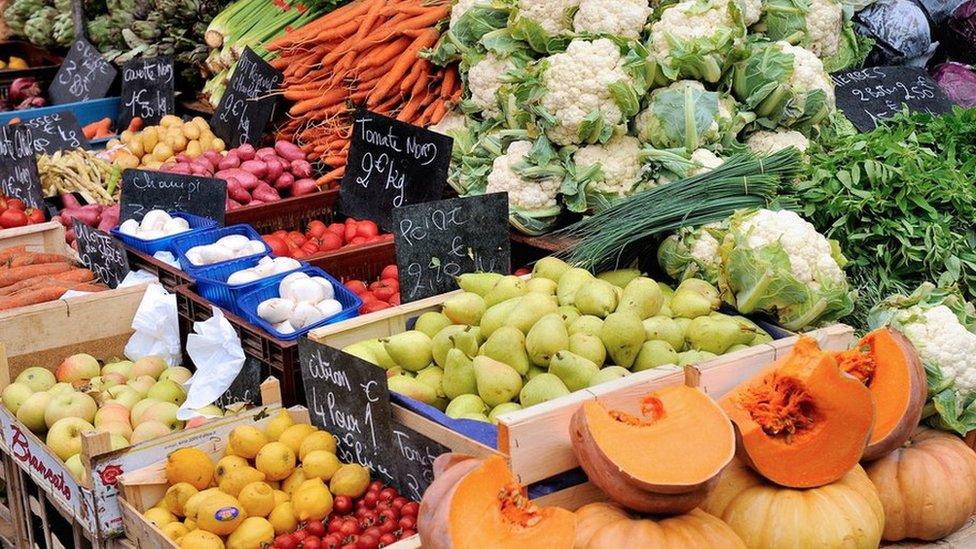
[[[635,402],[642,417],[589,401],[573,414],[573,452],[610,499],[642,513],[685,513],[735,455],[735,433],[700,389],[665,387]]]

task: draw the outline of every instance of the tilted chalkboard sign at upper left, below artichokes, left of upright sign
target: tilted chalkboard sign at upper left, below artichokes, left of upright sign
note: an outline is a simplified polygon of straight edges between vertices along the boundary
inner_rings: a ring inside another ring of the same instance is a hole
[[[47,95],[54,105],[101,99],[118,71],[84,38],[75,40]]]

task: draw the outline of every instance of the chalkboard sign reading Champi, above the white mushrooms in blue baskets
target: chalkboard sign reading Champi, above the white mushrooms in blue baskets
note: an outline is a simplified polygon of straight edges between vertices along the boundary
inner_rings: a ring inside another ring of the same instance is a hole
[[[125,170],[119,220],[142,221],[146,212],[159,209],[208,217],[223,226],[226,200],[227,182],[223,179]]]

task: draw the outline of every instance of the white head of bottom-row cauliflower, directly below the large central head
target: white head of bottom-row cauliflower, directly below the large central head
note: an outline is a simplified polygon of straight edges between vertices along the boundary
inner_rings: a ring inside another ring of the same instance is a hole
[[[587,145],[573,153],[579,169],[600,165],[603,179],[594,181],[594,190],[626,196],[641,177],[640,141],[629,135],[614,136],[606,144]]]

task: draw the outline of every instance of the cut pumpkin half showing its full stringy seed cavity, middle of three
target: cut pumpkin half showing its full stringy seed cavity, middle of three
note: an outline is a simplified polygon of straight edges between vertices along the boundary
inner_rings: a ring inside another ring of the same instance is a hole
[[[860,461],[874,423],[871,391],[808,337],[721,404],[735,425],[739,457],[791,488],[843,477]]]

